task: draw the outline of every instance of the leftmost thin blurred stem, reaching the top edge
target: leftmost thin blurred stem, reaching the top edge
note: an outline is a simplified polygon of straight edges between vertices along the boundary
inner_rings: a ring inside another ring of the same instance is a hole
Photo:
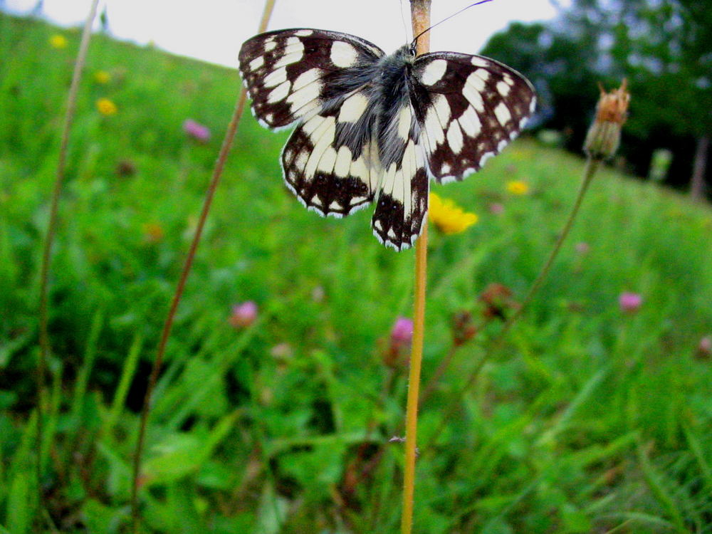
[[[37,360],[37,446],[36,446],[36,461],[37,461],[37,488],[38,488],[38,506],[42,506],[42,441],[43,441],[43,417],[44,417],[44,397],[45,397],[45,379],[47,373],[47,359],[51,352],[51,345],[48,333],[48,301],[49,301],[49,270],[52,260],[52,245],[57,229],[59,197],[62,192],[62,184],[64,183],[64,173],[67,162],[67,150],[69,147],[69,132],[72,128],[74,120],[74,112],[77,107],[77,95],[79,93],[79,82],[82,78],[82,70],[86,63],[87,51],[89,49],[89,40],[91,38],[91,26],[96,16],[96,7],[99,0],[93,0],[87,19],[84,23],[82,38],[77,52],[77,58],[74,62],[74,72],[72,74],[72,83],[69,86],[67,95],[67,109],[64,114],[62,127],[62,137],[59,147],[59,159],[57,162],[57,172],[54,179],[54,189],[49,211],[49,221],[47,223],[47,232],[44,241],[42,252],[42,266],[40,271],[40,303],[39,303],[39,342],[40,351]],[[40,514],[38,514],[39,516]]]

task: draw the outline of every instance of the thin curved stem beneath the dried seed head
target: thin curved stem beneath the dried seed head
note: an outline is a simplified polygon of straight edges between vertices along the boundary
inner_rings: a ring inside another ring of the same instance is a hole
[[[524,300],[522,301],[518,310],[516,310],[515,313],[510,315],[510,317],[506,320],[506,323],[504,323],[504,326],[502,327],[502,330],[500,330],[500,333],[491,342],[489,350],[486,352],[485,355],[483,355],[481,360],[479,362],[477,362],[476,367],[471,372],[470,377],[468,378],[464,387],[462,387],[462,389],[460,389],[458,392],[456,392],[456,394],[454,394],[452,396],[451,402],[448,405],[448,407],[445,409],[444,415],[440,420],[438,429],[434,432],[433,438],[431,439],[431,441],[429,442],[429,444],[426,446],[425,449],[431,449],[431,447],[434,446],[437,436],[439,436],[441,434],[441,431],[444,428],[444,425],[451,420],[452,415],[454,414],[457,407],[459,406],[460,399],[464,396],[464,394],[467,392],[467,390],[470,389],[473,386],[473,384],[476,382],[477,377],[479,376],[482,368],[484,367],[485,363],[489,360],[489,358],[491,358],[493,355],[495,355],[498,352],[498,350],[501,349],[509,330],[511,330],[511,328],[516,323],[516,321],[524,313],[524,311],[526,310],[528,305],[531,303],[531,300],[534,297],[535,293],[541,287],[541,284],[543,283],[544,279],[548,275],[548,273],[551,269],[551,266],[554,263],[556,256],[558,256],[558,253],[561,250],[562,244],[564,243],[565,239],[567,238],[567,236],[569,234],[569,231],[571,230],[571,227],[573,226],[573,223],[576,219],[578,211],[581,207],[583,197],[585,196],[588,186],[591,183],[592,178],[595,176],[595,174],[598,170],[598,167],[600,167],[600,164],[601,164],[600,159],[595,159],[595,158],[591,158],[591,157],[586,159],[586,167],[584,168],[584,172],[583,172],[583,180],[581,182],[581,186],[579,187],[579,191],[576,196],[576,200],[574,201],[574,205],[571,208],[569,217],[566,220],[563,228],[561,229],[561,232],[560,232],[559,237],[556,241],[556,244],[554,245],[554,248],[552,249],[551,253],[549,254],[549,257],[548,257],[546,263],[544,264],[543,268],[539,272],[535,281],[532,283],[531,287],[529,288],[529,291],[527,292],[526,296],[524,297]]]

